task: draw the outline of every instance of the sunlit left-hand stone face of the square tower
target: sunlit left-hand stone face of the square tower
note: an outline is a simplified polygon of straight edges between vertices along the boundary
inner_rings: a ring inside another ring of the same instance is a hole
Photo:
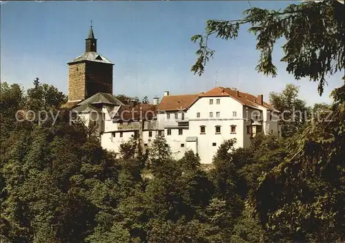
[[[69,66],[68,101],[79,101],[85,98],[86,63],[75,63]]]

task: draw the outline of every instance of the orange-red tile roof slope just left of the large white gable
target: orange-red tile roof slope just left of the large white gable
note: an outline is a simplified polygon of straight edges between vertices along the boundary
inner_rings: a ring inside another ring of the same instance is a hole
[[[197,99],[199,94],[184,94],[164,96],[159,103],[157,110],[159,111],[177,111],[188,109]]]

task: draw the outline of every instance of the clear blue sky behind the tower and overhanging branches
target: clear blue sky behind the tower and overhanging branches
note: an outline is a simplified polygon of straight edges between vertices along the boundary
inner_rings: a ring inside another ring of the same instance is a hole
[[[251,1],[252,6],[284,8],[288,1]],[[215,57],[202,76],[190,72],[196,60],[193,34],[203,32],[207,19],[239,19],[248,1],[43,1],[1,2],[1,81],[30,87],[34,78],[67,94],[68,61],[85,48],[90,20],[97,51],[115,63],[113,91],[142,98],[190,94],[218,86],[250,94],[279,92],[286,83],[300,86],[309,105],[331,102],[331,90],[342,85],[341,74],[328,79],[324,95],[317,83],[295,81],[277,63],[278,76],[255,71],[259,52],[255,36],[245,29],[235,41],[213,39]],[[277,46],[274,59],[282,50]]]

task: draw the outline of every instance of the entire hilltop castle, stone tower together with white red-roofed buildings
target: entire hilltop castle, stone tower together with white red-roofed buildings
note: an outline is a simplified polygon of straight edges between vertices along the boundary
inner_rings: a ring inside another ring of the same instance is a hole
[[[121,103],[112,94],[114,63],[97,53],[97,39],[90,27],[86,49],[68,63],[68,103],[86,125],[95,121],[104,149],[119,151],[132,136],[143,148],[155,136],[164,136],[175,158],[187,150],[199,154],[201,163],[211,163],[224,140],[236,138],[235,147],[247,147],[257,133],[280,133],[277,110],[264,96],[215,87],[199,94],[153,98],[151,104]]]

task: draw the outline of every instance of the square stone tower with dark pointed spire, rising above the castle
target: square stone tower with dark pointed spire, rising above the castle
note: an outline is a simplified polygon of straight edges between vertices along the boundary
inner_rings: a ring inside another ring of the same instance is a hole
[[[68,63],[68,102],[82,101],[99,92],[112,94],[114,63],[97,53],[92,25],[85,41],[85,52]]]

